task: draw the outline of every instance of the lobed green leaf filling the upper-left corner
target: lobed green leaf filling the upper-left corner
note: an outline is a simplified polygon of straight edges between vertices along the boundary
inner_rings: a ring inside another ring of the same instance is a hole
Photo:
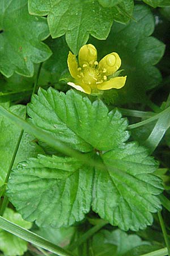
[[[49,47],[41,42],[49,35],[46,19],[29,15],[27,0],[2,0],[0,28],[0,71],[6,77],[14,72],[33,76],[33,63],[51,55]]]

